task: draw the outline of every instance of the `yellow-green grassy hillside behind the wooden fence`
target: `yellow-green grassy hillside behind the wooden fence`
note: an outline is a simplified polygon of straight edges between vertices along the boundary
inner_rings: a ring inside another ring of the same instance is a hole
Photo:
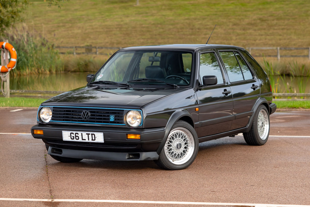
[[[204,44],[215,24],[212,44],[310,46],[308,0],[71,0],[61,9],[30,2],[28,29],[61,46]]]

